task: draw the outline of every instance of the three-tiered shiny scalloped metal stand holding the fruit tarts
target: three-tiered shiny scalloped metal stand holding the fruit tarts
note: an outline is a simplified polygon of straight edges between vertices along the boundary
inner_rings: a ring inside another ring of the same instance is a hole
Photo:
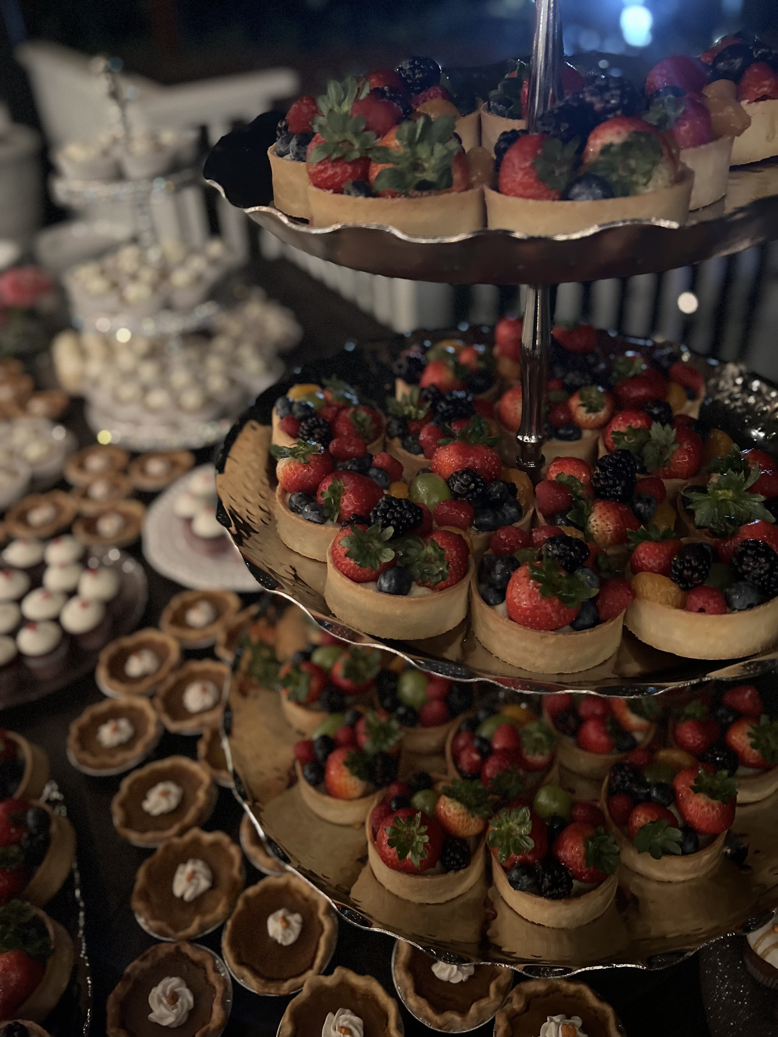
[[[530,125],[534,113],[544,111],[553,95],[561,56],[558,30],[555,0],[538,0]],[[778,237],[775,164],[734,170],[726,202],[695,214],[683,226],[626,223],[576,235],[534,239],[483,229],[435,240],[414,240],[380,226],[313,228],[269,203],[269,175],[265,189],[260,184],[251,199],[246,197],[247,150],[263,155],[272,139],[272,134],[266,137],[260,129],[229,135],[212,152],[205,176],[252,220],[287,244],[387,277],[473,284],[530,282],[522,356],[524,418],[517,452],[520,467],[534,478],[541,464],[550,285],[670,270]],[[294,381],[351,376],[368,395],[382,399],[392,385],[391,359],[374,349],[359,356],[344,352],[329,359],[326,366],[296,371]],[[478,644],[467,622],[440,638],[402,643],[368,638],[346,627],[324,600],[325,565],[289,551],[275,529],[268,453],[271,409],[291,381],[259,397],[233,426],[217,465],[217,488],[222,521],[257,581],[301,606],[325,629],[352,643],[377,645],[457,680],[485,680],[493,692],[508,699],[553,691],[662,694],[671,708],[678,697],[712,679],[750,679],[774,670],[776,650],[726,663],[700,662],[663,655],[626,632],[615,658],[596,670],[560,676],[501,663]],[[663,968],[778,903],[775,794],[739,809],[732,829],[737,838],[730,834],[727,852],[712,874],[685,882],[659,882],[622,868],[628,875],[619,879],[615,902],[600,919],[577,929],[526,922],[494,891],[487,896],[485,880],[444,904],[408,903],[372,876],[361,830],[319,820],[306,810],[299,789],[286,787],[295,735],[284,728],[278,696],[260,692],[246,698],[237,689],[234,681],[227,726],[231,720],[229,746],[239,795],[289,866],[328,896],[345,919],[366,930],[392,933],[445,960],[494,961],[528,973],[556,975],[614,964]]]

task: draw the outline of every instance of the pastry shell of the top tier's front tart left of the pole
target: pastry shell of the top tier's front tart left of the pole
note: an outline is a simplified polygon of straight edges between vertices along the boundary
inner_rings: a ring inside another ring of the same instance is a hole
[[[483,192],[437,193],[421,198],[356,198],[308,188],[314,227],[360,223],[393,227],[409,237],[450,237],[483,226]]]

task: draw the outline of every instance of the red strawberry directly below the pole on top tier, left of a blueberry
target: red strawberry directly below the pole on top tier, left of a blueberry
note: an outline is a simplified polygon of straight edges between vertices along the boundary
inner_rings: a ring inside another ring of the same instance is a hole
[[[498,178],[500,194],[558,201],[573,173],[575,158],[575,148],[553,137],[525,134],[503,156]]]

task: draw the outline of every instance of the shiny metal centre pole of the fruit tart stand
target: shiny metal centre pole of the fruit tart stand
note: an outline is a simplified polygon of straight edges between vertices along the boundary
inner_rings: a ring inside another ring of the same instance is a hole
[[[562,23],[558,0],[535,0],[535,37],[529,79],[527,128],[562,95]],[[537,483],[543,469],[544,404],[551,345],[550,289],[527,285],[522,333],[522,424],[517,432],[517,464]]]

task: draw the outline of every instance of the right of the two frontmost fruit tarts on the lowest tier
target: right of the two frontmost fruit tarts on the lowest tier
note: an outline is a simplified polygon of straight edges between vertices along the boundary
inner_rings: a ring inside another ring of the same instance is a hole
[[[616,895],[618,847],[593,803],[545,785],[532,806],[503,807],[489,824],[492,878],[523,918],[573,929],[599,918]]]

